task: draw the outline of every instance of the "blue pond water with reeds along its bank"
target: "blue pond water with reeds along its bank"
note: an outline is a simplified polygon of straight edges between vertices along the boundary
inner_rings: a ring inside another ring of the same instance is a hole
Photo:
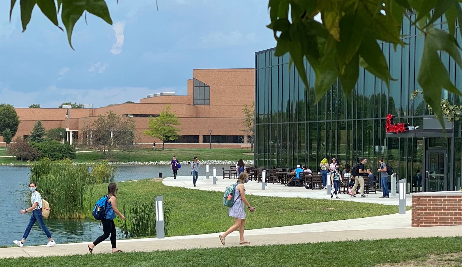
[[[211,166],[212,168],[213,166]],[[220,174],[221,165],[217,166],[217,174]],[[225,166],[229,169],[229,166]],[[201,166],[199,175],[205,174],[206,167]],[[212,173],[212,169],[210,169]],[[0,225],[3,228],[3,234],[0,235],[1,245],[13,245],[14,239],[20,240],[24,234],[29,214],[20,214],[24,206],[24,200],[19,190],[29,182],[28,166],[0,166]],[[163,177],[173,176],[169,165],[122,165],[118,166],[115,181],[140,180],[146,178],[158,177],[159,172]],[[178,170],[178,176],[191,175],[191,169],[184,166]],[[191,178],[192,183],[192,178]],[[45,219],[49,231],[55,238],[56,243],[73,243],[73,242],[90,242],[103,233],[103,228],[99,228],[97,221],[85,219]],[[118,239],[120,231],[117,229]],[[27,244],[46,244],[48,238],[36,223],[27,237]]]

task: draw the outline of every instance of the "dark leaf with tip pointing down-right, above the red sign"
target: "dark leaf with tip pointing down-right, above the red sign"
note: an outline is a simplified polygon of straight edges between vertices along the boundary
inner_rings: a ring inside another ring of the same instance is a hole
[[[365,31],[363,41],[359,47],[359,55],[361,56],[359,62],[368,72],[383,80],[389,90],[390,79],[396,79],[393,79],[390,75],[388,62],[377,40],[369,33],[369,31]]]

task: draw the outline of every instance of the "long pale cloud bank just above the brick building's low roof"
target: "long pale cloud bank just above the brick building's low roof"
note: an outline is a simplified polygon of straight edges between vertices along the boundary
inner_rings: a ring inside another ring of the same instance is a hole
[[[66,89],[55,85],[46,90],[34,92],[13,91],[8,87],[1,88],[2,103],[11,103],[17,108],[28,107],[31,103],[39,103],[42,108],[57,108],[63,102],[93,104],[94,108],[104,107],[111,103],[127,101],[140,102],[140,98],[156,92],[176,92],[186,94],[185,87],[104,87],[99,89]]]

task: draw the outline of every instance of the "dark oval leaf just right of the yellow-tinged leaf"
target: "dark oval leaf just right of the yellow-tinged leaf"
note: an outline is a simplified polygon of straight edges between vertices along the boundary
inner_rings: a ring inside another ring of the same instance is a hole
[[[358,15],[348,14],[340,19],[340,42],[337,42],[337,58],[340,73],[358,52],[363,39],[364,22]]]

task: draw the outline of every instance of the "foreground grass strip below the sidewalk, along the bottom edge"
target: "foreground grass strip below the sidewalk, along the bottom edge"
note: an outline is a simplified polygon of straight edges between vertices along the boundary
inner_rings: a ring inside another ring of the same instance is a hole
[[[359,256],[359,252],[362,252]],[[132,252],[2,259],[0,266],[85,266],[85,267],[373,267],[416,261],[427,266],[429,255],[462,251],[462,237],[432,237],[343,241],[293,245],[246,246],[217,249]],[[460,266],[462,258],[444,259],[447,267]],[[431,265],[434,266],[434,265]]]

